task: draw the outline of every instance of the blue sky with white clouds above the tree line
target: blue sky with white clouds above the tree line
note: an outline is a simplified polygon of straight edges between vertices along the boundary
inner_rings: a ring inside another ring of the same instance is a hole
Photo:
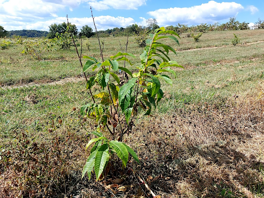
[[[159,26],[178,23],[225,23],[235,16],[240,22],[253,25],[264,20],[263,0],[234,1],[158,1],[158,0],[0,0],[0,25],[6,30],[46,30],[53,23],[69,21],[78,30],[93,26],[90,6],[98,30],[126,27],[133,23],[146,25],[156,18]]]

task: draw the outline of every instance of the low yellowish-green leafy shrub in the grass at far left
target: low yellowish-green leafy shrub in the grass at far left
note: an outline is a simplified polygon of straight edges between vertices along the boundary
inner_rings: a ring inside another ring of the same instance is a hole
[[[21,41],[21,38],[18,38],[17,43],[24,45],[24,49],[21,53],[30,54],[36,57],[38,60],[43,59],[43,53],[52,51],[54,48],[53,39],[44,39],[42,41],[34,42],[32,40]]]

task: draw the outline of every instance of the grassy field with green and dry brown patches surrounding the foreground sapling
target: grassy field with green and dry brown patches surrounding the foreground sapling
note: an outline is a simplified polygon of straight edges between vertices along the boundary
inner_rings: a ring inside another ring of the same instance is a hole
[[[233,33],[243,45],[231,44]],[[1,50],[0,198],[151,197],[129,167],[161,197],[263,197],[263,35],[215,31],[195,43],[184,33],[180,47],[164,40],[185,69],[175,69],[173,85],[164,85],[153,117],[138,114],[143,121],[125,137],[141,165],[130,160],[122,170],[117,162],[100,182],[94,174],[81,179],[94,136],[79,113],[89,96],[75,49],[47,52],[41,61],[18,44]],[[105,57],[126,44],[125,37],[102,41]],[[127,67],[136,70],[143,48],[134,41],[128,38],[136,58]],[[83,40],[82,55],[100,59],[98,40]]]

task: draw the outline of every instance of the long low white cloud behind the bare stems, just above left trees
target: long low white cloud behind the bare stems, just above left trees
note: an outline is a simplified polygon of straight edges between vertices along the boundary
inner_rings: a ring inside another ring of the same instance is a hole
[[[3,18],[2,18],[3,17]],[[21,18],[15,18],[17,21],[16,23],[13,23],[14,18],[8,18],[4,15],[0,15],[0,24],[3,24],[4,28],[8,31],[10,30],[43,30],[43,31],[49,31],[49,26],[53,23],[63,23],[67,21],[66,17],[56,17],[47,21],[37,21],[37,22],[24,22],[21,20]],[[5,21],[3,23],[3,21]],[[113,16],[96,16],[94,17],[94,21],[97,26],[97,30],[106,30],[108,28],[112,29],[115,27],[126,27],[129,25],[132,25],[135,22],[133,18],[125,18],[125,17],[113,17]],[[78,30],[82,28],[84,25],[88,25],[90,27],[94,27],[94,22],[92,17],[87,18],[69,18],[69,22],[74,23]]]

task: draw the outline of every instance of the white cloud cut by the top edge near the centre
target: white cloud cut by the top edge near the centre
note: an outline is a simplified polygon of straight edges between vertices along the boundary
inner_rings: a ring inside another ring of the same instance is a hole
[[[107,9],[124,9],[124,10],[137,10],[138,7],[145,5],[147,0],[91,0],[89,6],[95,10]]]

